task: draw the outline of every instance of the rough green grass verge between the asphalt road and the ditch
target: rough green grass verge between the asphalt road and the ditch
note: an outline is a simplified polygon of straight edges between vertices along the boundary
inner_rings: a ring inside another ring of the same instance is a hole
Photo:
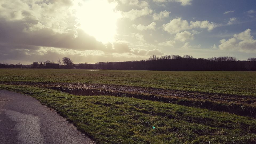
[[[76,96],[31,86],[0,85],[0,89],[38,99],[96,143],[256,142],[256,120],[249,117],[127,97]]]

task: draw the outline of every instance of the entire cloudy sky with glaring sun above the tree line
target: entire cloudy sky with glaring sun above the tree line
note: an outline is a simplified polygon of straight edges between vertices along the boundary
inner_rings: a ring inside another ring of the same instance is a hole
[[[0,1],[0,62],[256,57],[255,0]]]

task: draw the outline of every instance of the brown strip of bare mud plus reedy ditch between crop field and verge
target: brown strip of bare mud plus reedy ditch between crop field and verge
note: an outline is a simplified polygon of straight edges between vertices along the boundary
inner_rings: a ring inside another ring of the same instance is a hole
[[[132,86],[53,83],[53,82],[0,82],[6,85],[47,87],[74,95],[112,95],[151,101],[175,103],[256,118],[256,97],[227,94],[198,93]]]

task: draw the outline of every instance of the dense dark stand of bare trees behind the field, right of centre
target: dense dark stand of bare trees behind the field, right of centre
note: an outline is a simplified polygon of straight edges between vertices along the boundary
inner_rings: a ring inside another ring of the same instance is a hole
[[[96,69],[113,70],[224,70],[224,71],[256,71],[256,58],[239,61],[235,57],[193,58],[190,55],[150,56],[146,60],[126,62],[99,62]]]

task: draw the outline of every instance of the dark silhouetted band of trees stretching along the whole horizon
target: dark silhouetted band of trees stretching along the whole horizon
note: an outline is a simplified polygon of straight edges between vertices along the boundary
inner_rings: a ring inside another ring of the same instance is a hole
[[[46,63],[54,61],[40,61],[45,66]],[[38,62],[31,65],[22,64],[2,64],[0,68],[39,68]],[[75,64],[70,58],[58,58],[58,68],[62,69],[108,69],[108,70],[163,70],[163,71],[256,71],[256,58],[248,58],[247,61],[239,61],[235,57],[212,57],[193,58],[190,55],[152,55],[146,60],[126,61],[126,62],[98,62],[95,64],[78,63]],[[42,68],[42,67],[40,67]]]

